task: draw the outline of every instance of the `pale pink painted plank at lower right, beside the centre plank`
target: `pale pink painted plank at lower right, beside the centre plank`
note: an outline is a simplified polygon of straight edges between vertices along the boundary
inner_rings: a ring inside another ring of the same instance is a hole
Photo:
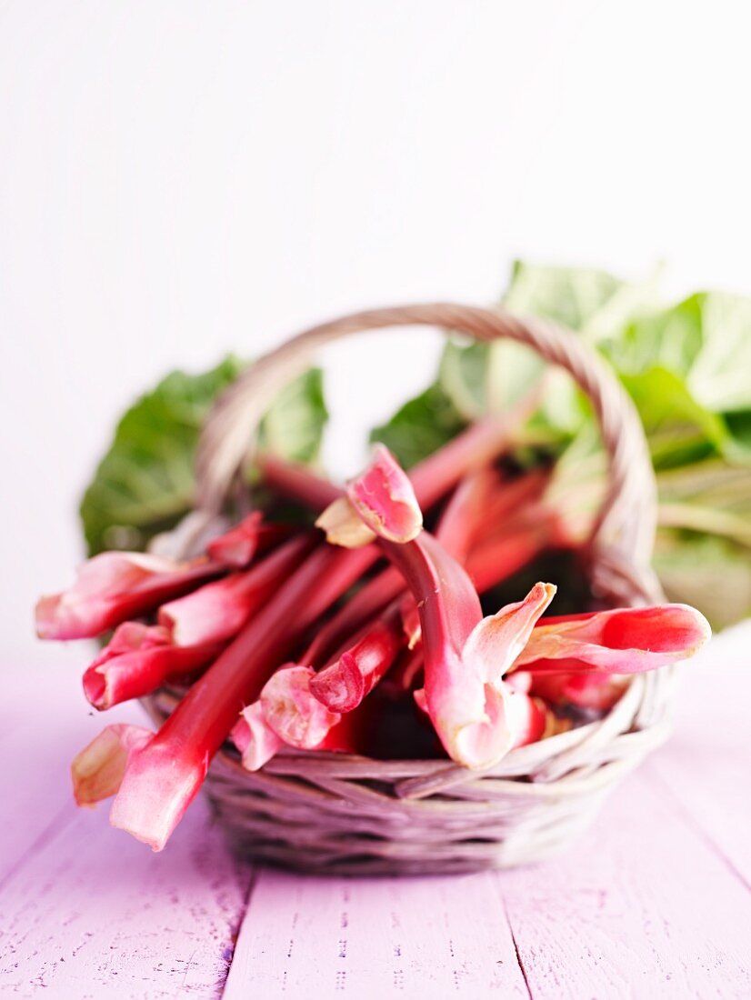
[[[751,996],[751,893],[639,774],[569,854],[497,877],[535,1000]]]

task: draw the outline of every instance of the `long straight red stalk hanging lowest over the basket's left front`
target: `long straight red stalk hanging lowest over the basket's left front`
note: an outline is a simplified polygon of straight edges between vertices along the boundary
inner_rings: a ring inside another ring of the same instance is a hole
[[[312,623],[362,575],[368,549],[320,545],[222,652],[143,750],[132,755],[113,826],[161,850],[245,705]]]

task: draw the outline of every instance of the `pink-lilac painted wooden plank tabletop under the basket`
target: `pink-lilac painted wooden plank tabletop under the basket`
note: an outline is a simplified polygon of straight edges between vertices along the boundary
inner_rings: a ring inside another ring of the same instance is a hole
[[[0,992],[748,998],[750,644],[736,629],[686,669],[675,737],[568,855],[408,880],[238,864],[202,799],[152,854],[71,803],[69,759],[102,725],[75,672],[6,670]]]

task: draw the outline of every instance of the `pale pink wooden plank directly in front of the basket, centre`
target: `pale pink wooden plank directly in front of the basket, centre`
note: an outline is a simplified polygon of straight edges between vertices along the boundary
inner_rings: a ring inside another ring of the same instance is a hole
[[[225,1000],[529,996],[492,874],[313,878],[264,871]]]

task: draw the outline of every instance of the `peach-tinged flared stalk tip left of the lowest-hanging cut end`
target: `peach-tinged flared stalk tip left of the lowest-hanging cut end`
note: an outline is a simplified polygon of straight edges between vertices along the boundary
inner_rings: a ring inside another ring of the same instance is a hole
[[[107,726],[95,736],[71,764],[73,794],[78,805],[91,806],[115,795],[128,761],[153,736],[149,729],[124,723]]]

